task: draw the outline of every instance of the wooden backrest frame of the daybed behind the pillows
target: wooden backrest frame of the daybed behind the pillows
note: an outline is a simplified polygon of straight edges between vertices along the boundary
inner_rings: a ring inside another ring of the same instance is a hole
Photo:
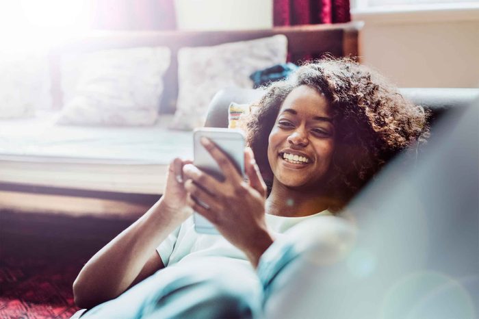
[[[115,31],[70,38],[54,47],[49,54],[53,107],[60,109],[63,105],[60,60],[62,55],[68,53],[131,47],[170,48],[171,64],[164,76],[164,93],[159,103],[159,112],[173,113],[178,96],[177,53],[182,47],[207,47],[284,34],[288,41],[289,60],[292,62],[324,53],[337,57],[358,56],[358,34],[362,25],[363,23],[352,22],[239,31]]]

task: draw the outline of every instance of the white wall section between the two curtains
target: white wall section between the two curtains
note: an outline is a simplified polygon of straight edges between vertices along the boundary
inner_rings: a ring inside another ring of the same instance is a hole
[[[187,30],[268,29],[272,0],[175,0],[177,25]]]

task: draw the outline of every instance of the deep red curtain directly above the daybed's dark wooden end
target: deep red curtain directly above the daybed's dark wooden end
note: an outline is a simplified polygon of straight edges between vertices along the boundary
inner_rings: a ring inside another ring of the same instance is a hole
[[[349,0],[273,0],[274,26],[344,23],[351,20]]]

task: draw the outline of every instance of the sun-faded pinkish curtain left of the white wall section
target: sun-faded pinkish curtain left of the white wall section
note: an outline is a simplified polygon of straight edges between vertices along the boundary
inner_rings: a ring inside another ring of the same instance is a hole
[[[174,0],[92,1],[92,28],[109,30],[175,29]]]

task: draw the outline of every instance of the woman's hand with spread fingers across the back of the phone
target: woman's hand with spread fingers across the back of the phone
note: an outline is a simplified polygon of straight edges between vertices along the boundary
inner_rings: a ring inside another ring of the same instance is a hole
[[[253,151],[247,148],[244,155],[249,180],[246,182],[216,144],[207,138],[201,143],[218,162],[224,181],[218,181],[192,164],[183,166],[187,205],[212,222],[224,238],[242,249],[253,266],[257,266],[273,238],[265,220],[266,184]]]

